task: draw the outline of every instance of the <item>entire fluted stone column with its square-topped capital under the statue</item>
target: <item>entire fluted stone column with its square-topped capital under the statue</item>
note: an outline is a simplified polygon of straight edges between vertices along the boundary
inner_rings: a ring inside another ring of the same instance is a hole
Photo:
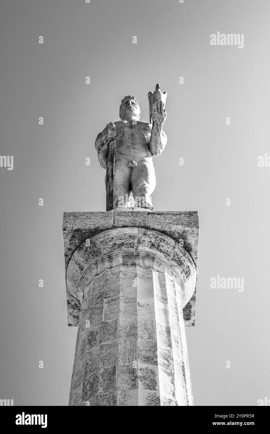
[[[197,213],[65,213],[63,233],[69,405],[193,405]]]

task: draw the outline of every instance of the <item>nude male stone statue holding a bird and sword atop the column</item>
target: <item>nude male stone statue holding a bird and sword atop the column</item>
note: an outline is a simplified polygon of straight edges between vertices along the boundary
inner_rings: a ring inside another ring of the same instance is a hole
[[[153,210],[150,195],[156,177],[152,159],[153,155],[161,154],[167,142],[163,132],[167,94],[159,89],[156,85],[154,94],[148,94],[152,124],[140,121],[137,99],[128,95],[121,101],[121,120],[107,124],[96,138],[98,160],[107,169],[107,210],[128,206],[123,205],[123,199],[130,200],[131,191],[135,206]]]

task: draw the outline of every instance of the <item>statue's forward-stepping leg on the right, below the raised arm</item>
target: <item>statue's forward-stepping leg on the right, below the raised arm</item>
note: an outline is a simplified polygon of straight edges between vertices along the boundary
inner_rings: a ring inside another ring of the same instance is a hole
[[[153,210],[150,195],[156,187],[156,176],[152,158],[142,158],[131,169],[130,183],[135,206]]]

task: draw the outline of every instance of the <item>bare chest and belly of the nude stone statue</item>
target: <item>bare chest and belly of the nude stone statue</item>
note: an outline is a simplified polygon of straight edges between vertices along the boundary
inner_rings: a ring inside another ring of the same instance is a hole
[[[114,122],[116,131],[122,132],[115,145],[115,158],[138,160],[139,158],[152,158],[149,143],[152,125],[148,122],[117,121]]]

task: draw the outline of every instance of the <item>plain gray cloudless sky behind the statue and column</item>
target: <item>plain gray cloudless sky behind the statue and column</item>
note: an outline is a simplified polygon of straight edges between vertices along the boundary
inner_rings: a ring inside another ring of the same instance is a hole
[[[1,399],[68,404],[77,329],[67,326],[63,211],[105,210],[94,140],[125,95],[148,122],[157,82],[168,142],[154,158],[154,209],[200,220],[196,326],[186,329],[194,403],[270,398],[270,168],[257,166],[270,155],[269,21],[268,0],[1,2],[0,153],[14,156],[12,171],[0,168]],[[218,31],[243,33],[244,48],[211,46]],[[244,291],[211,289],[217,275],[243,277]]]

